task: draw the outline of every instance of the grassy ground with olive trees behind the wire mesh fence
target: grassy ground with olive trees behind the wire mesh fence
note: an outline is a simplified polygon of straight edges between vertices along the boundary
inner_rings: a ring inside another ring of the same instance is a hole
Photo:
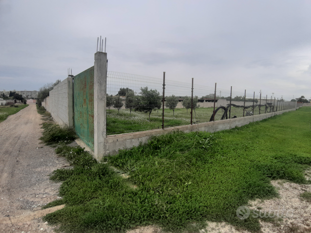
[[[250,111],[250,110],[249,110]],[[213,108],[198,108],[193,111],[192,122],[202,123],[208,122],[213,112]],[[264,107],[261,107],[260,113],[264,113]],[[220,120],[223,114],[223,110],[219,110],[216,113],[215,120]],[[259,109],[255,108],[254,115],[259,114]],[[233,116],[242,117],[243,109],[231,107],[230,117]],[[246,115],[246,111],[245,111]],[[185,108],[176,108],[173,116],[173,111],[164,109],[164,127],[188,125],[190,124],[190,109],[188,111]],[[229,117],[229,113],[228,113]],[[150,121],[148,119],[148,113],[131,112],[129,115],[128,109],[107,110],[107,135],[130,133],[151,129],[159,129],[162,127],[162,110],[153,111],[150,115]]]

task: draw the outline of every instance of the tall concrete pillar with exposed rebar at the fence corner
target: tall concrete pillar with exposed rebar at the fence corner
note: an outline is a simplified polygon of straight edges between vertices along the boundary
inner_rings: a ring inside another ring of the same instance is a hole
[[[94,157],[106,154],[107,53],[96,52],[94,61]]]

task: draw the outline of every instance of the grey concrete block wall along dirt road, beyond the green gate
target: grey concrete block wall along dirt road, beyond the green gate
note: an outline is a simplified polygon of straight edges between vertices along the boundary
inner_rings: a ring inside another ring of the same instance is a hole
[[[61,125],[73,126],[72,107],[72,78],[68,77],[54,86],[45,98],[42,106],[53,117],[54,121]]]

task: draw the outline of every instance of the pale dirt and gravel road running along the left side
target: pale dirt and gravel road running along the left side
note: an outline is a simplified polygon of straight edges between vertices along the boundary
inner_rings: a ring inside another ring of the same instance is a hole
[[[67,163],[40,143],[41,123],[35,104],[0,123],[0,233],[52,232],[40,217],[55,210],[40,209],[59,198],[48,175]]]

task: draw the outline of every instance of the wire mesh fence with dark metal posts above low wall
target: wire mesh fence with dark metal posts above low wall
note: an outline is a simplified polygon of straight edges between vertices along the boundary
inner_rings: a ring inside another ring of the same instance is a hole
[[[295,108],[295,102],[134,74],[107,72],[107,135],[163,129]]]

